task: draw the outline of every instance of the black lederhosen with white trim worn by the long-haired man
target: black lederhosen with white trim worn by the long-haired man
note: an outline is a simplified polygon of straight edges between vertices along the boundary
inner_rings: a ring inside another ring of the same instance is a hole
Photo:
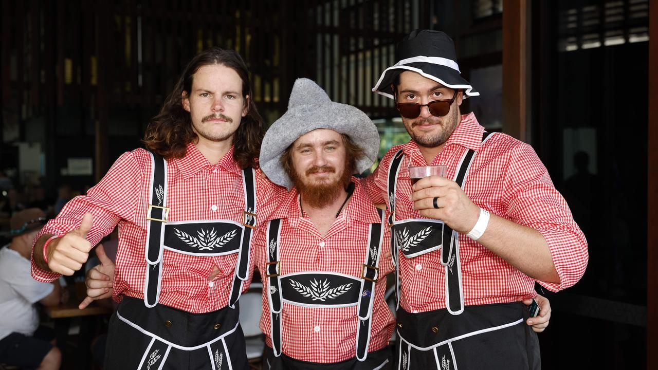
[[[232,220],[168,220],[167,163],[151,153],[150,201],[144,298],[124,296],[109,327],[105,369],[247,369],[238,299],[249,274],[251,234],[256,226],[256,178],[242,171],[243,223]],[[228,305],[189,313],[159,304],[163,251],[199,259],[238,253]]]

